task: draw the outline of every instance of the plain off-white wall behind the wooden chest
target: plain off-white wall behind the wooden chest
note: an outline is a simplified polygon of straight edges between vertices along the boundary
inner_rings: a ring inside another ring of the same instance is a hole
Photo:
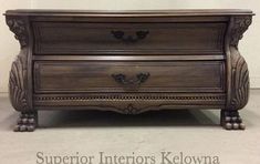
[[[258,0],[0,0],[1,13],[7,9],[251,9],[256,12],[253,23],[240,42],[240,52],[246,58],[251,79],[251,88],[260,88],[260,1]],[[18,42],[8,30],[3,17],[0,18],[0,92],[8,91],[8,72]]]

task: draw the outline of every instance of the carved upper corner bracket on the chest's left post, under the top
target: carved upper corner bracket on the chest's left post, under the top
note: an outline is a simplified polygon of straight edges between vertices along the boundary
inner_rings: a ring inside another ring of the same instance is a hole
[[[7,17],[7,24],[10,31],[12,31],[15,34],[14,38],[19,40],[21,48],[27,47],[29,39],[28,39],[25,21],[21,18]]]

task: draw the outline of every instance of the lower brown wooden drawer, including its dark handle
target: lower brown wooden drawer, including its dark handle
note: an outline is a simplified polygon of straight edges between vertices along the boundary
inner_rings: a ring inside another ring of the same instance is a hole
[[[225,92],[222,61],[35,61],[35,93]]]

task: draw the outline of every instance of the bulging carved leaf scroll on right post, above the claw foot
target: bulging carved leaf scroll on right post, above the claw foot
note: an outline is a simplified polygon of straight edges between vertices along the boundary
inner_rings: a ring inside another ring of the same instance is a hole
[[[231,49],[231,109],[242,109],[248,103],[249,72],[245,59]]]

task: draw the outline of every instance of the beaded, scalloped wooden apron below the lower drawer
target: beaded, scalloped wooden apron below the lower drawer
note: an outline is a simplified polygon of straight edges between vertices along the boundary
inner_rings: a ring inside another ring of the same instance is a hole
[[[226,95],[176,95],[175,94],[94,94],[85,96],[35,95],[34,105],[49,106],[90,106],[111,110],[122,114],[138,114],[160,106],[183,105],[225,105]]]

